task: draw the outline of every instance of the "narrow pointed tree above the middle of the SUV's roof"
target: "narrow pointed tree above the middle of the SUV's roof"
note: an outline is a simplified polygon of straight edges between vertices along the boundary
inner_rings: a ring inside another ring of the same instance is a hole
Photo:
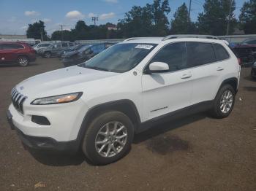
[[[171,20],[172,34],[189,34],[190,19],[185,3],[178,7],[173,17],[174,19]]]

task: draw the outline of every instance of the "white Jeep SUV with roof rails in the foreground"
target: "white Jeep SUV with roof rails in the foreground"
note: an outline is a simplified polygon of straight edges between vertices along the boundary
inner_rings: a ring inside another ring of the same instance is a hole
[[[132,38],[78,66],[49,71],[12,90],[7,118],[36,149],[77,151],[96,164],[123,157],[157,122],[233,109],[241,67],[207,36]]]

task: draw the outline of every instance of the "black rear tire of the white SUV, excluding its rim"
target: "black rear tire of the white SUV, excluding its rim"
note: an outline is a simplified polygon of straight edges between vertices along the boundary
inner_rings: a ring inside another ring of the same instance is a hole
[[[233,95],[233,104],[230,108],[230,110],[227,113],[223,113],[220,109],[220,99],[222,98],[223,93],[225,93],[226,90],[230,90],[230,92]],[[223,85],[220,89],[219,92],[217,94],[217,97],[215,98],[215,111],[217,112],[218,116],[223,118],[223,117],[227,117],[233,110],[233,106],[235,104],[235,90],[233,89],[233,87],[231,85]]]

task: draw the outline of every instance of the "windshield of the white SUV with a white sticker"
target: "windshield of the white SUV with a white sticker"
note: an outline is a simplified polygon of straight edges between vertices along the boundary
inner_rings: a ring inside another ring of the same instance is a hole
[[[157,44],[116,44],[78,66],[102,71],[125,72],[133,69]]]

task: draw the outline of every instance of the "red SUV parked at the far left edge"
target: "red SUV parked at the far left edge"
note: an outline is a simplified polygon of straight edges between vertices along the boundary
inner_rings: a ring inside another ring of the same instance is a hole
[[[0,42],[0,64],[18,63],[28,66],[29,62],[36,60],[36,52],[24,42]]]

